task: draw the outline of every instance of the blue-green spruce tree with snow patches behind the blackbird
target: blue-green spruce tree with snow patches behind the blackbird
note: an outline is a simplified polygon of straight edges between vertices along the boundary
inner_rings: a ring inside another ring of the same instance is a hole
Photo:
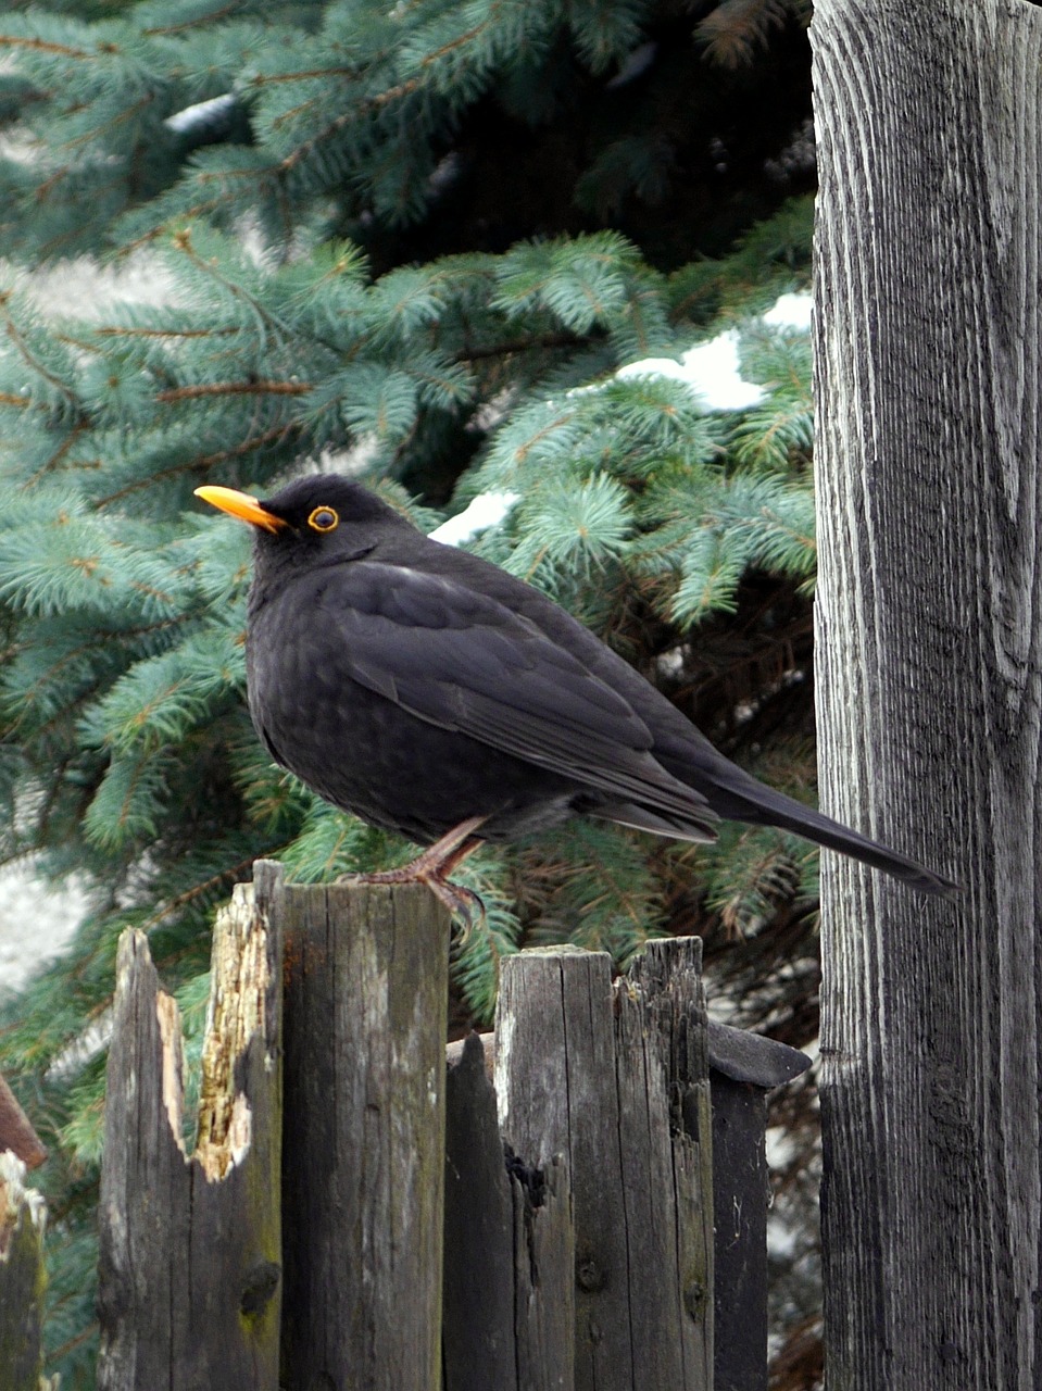
[[[253,858],[320,879],[409,853],[259,746],[249,538],[196,485],[351,470],[426,530],[502,498],[467,544],[812,796],[810,349],[762,319],[810,275],[805,18],[797,0],[81,0],[0,22],[0,858],[90,892],[0,1036],[53,1152],[63,1384],[92,1384],[92,1040],[120,931],[149,932],[198,1039],[210,914]],[[138,291],[42,307],[40,273],[53,287],[78,256]],[[751,408],[620,370],[722,328]],[[490,1017],[523,942],[625,965],[698,931],[736,989],[796,957],[799,988],[765,1007],[799,1042],[815,864],[737,826],[712,849],[576,822],[484,850],[458,1014]]]

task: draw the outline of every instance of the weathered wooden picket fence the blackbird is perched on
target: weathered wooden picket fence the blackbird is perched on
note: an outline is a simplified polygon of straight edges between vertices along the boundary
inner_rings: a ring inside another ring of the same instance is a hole
[[[100,1391],[767,1385],[765,1095],[803,1054],[707,1028],[687,938],[616,982],[505,958],[494,1036],[447,1060],[448,940],[422,887],[259,862],[218,914],[192,1139],[177,1006],[124,935]],[[0,1391],[38,1388],[18,1327]]]

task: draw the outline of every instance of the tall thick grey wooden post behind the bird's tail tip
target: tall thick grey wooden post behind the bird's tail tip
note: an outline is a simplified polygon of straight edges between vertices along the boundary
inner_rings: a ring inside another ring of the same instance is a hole
[[[1042,1385],[1042,13],[818,0],[829,1391]]]

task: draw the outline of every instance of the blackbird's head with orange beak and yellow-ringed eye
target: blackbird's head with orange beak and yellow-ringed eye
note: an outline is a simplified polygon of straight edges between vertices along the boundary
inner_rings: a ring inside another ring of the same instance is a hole
[[[195,494],[253,527],[257,573],[355,559],[388,531],[410,529],[367,488],[335,473],[296,479],[263,499],[220,487]]]

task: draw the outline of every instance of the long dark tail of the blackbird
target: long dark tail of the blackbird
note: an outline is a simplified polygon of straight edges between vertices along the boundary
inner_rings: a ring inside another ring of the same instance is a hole
[[[723,764],[723,759],[721,762]],[[723,768],[712,772],[716,776],[707,778],[705,769],[700,769],[698,789],[721,817],[746,821],[754,826],[778,826],[782,830],[792,830],[818,846],[828,846],[829,850],[839,850],[840,854],[853,855],[854,860],[882,869],[883,874],[900,879],[913,889],[918,889],[920,893],[957,899],[963,892],[952,879],[927,869],[925,865],[890,850],[889,846],[869,840],[868,836],[851,830],[821,811],[804,807],[803,803],[786,797],[785,793],[776,791],[774,787],[764,786],[733,764],[723,764]]]

